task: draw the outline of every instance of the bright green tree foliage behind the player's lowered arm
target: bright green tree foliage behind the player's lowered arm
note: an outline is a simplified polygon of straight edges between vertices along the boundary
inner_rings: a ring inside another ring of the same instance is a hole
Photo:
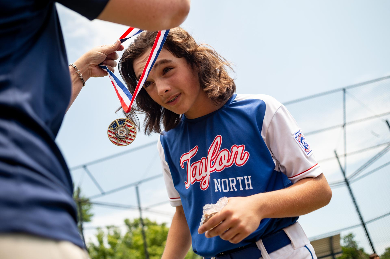
[[[97,244],[89,243],[89,254],[92,259],[144,259],[144,241],[140,219],[126,219],[126,233],[121,234],[118,227],[108,226],[98,229]],[[144,219],[147,250],[150,259],[160,259],[163,254],[169,228],[165,223],[157,224],[148,218]],[[186,259],[200,259],[192,249]]]

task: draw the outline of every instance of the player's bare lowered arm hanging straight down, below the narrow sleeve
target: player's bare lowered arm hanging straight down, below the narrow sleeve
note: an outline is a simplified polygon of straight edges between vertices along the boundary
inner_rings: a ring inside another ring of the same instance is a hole
[[[190,247],[191,233],[184,216],[183,206],[177,206],[161,259],[184,258]]]

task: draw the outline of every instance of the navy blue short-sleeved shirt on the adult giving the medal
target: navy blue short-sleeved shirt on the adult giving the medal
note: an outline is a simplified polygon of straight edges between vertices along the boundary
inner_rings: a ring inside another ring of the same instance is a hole
[[[92,20],[108,0],[58,2]],[[0,233],[83,247],[73,183],[54,142],[71,97],[55,2],[0,6]]]

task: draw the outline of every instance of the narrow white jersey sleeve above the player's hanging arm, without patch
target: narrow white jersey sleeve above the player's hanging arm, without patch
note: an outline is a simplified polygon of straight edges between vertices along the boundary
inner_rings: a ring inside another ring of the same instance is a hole
[[[171,204],[171,206],[174,207],[181,206],[180,195],[175,189],[175,186],[173,184],[172,175],[170,173],[168,163],[165,160],[164,149],[163,146],[161,145],[160,137],[158,138],[157,141],[157,150],[158,153],[160,154],[161,167],[163,169],[163,178],[165,182],[165,187],[167,188],[167,192],[168,192],[169,203]]]

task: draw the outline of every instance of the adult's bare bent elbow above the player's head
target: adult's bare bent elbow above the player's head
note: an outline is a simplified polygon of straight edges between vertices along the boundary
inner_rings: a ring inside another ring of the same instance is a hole
[[[179,26],[190,11],[190,0],[110,0],[97,19],[144,30]]]

